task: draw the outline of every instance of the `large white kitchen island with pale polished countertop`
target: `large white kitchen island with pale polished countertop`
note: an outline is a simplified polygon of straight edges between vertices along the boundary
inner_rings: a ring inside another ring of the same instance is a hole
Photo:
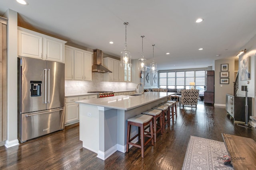
[[[79,133],[82,146],[105,160],[116,150],[126,152],[127,119],[163,102],[172,92],[145,92],[138,96],[113,96],[77,101],[80,107]],[[137,132],[132,127],[131,134]],[[134,139],[138,140],[138,139]]]

